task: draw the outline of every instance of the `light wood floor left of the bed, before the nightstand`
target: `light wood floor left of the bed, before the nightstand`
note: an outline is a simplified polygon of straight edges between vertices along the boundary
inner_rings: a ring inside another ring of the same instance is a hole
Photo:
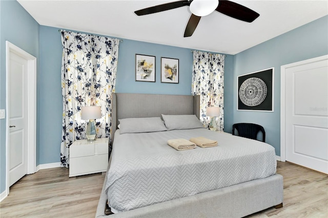
[[[1,217],[94,217],[105,175],[68,177],[66,168],[43,169],[10,187]]]

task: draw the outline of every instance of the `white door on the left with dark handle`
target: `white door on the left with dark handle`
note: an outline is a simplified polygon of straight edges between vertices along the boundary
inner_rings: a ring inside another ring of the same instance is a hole
[[[9,186],[27,173],[27,59],[10,52]]]

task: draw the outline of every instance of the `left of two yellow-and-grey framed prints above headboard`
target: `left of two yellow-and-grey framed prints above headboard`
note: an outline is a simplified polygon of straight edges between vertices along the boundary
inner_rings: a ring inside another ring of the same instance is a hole
[[[155,56],[135,55],[135,81],[155,82]]]

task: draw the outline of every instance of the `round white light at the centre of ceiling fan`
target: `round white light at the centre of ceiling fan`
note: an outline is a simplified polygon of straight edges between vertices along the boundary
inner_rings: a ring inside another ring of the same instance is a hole
[[[189,10],[196,16],[206,16],[212,13],[219,5],[218,0],[193,0]]]

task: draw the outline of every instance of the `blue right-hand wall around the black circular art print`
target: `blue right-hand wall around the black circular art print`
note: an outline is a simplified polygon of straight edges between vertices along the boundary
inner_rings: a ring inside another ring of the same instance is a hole
[[[234,57],[233,122],[253,122],[265,129],[266,142],[280,156],[280,66],[328,54],[328,16],[282,34]],[[237,76],[274,67],[274,112],[237,111]],[[227,88],[227,85],[225,86]],[[225,98],[227,90],[224,90]],[[226,111],[225,110],[225,111]],[[225,123],[226,124],[226,123]]]

